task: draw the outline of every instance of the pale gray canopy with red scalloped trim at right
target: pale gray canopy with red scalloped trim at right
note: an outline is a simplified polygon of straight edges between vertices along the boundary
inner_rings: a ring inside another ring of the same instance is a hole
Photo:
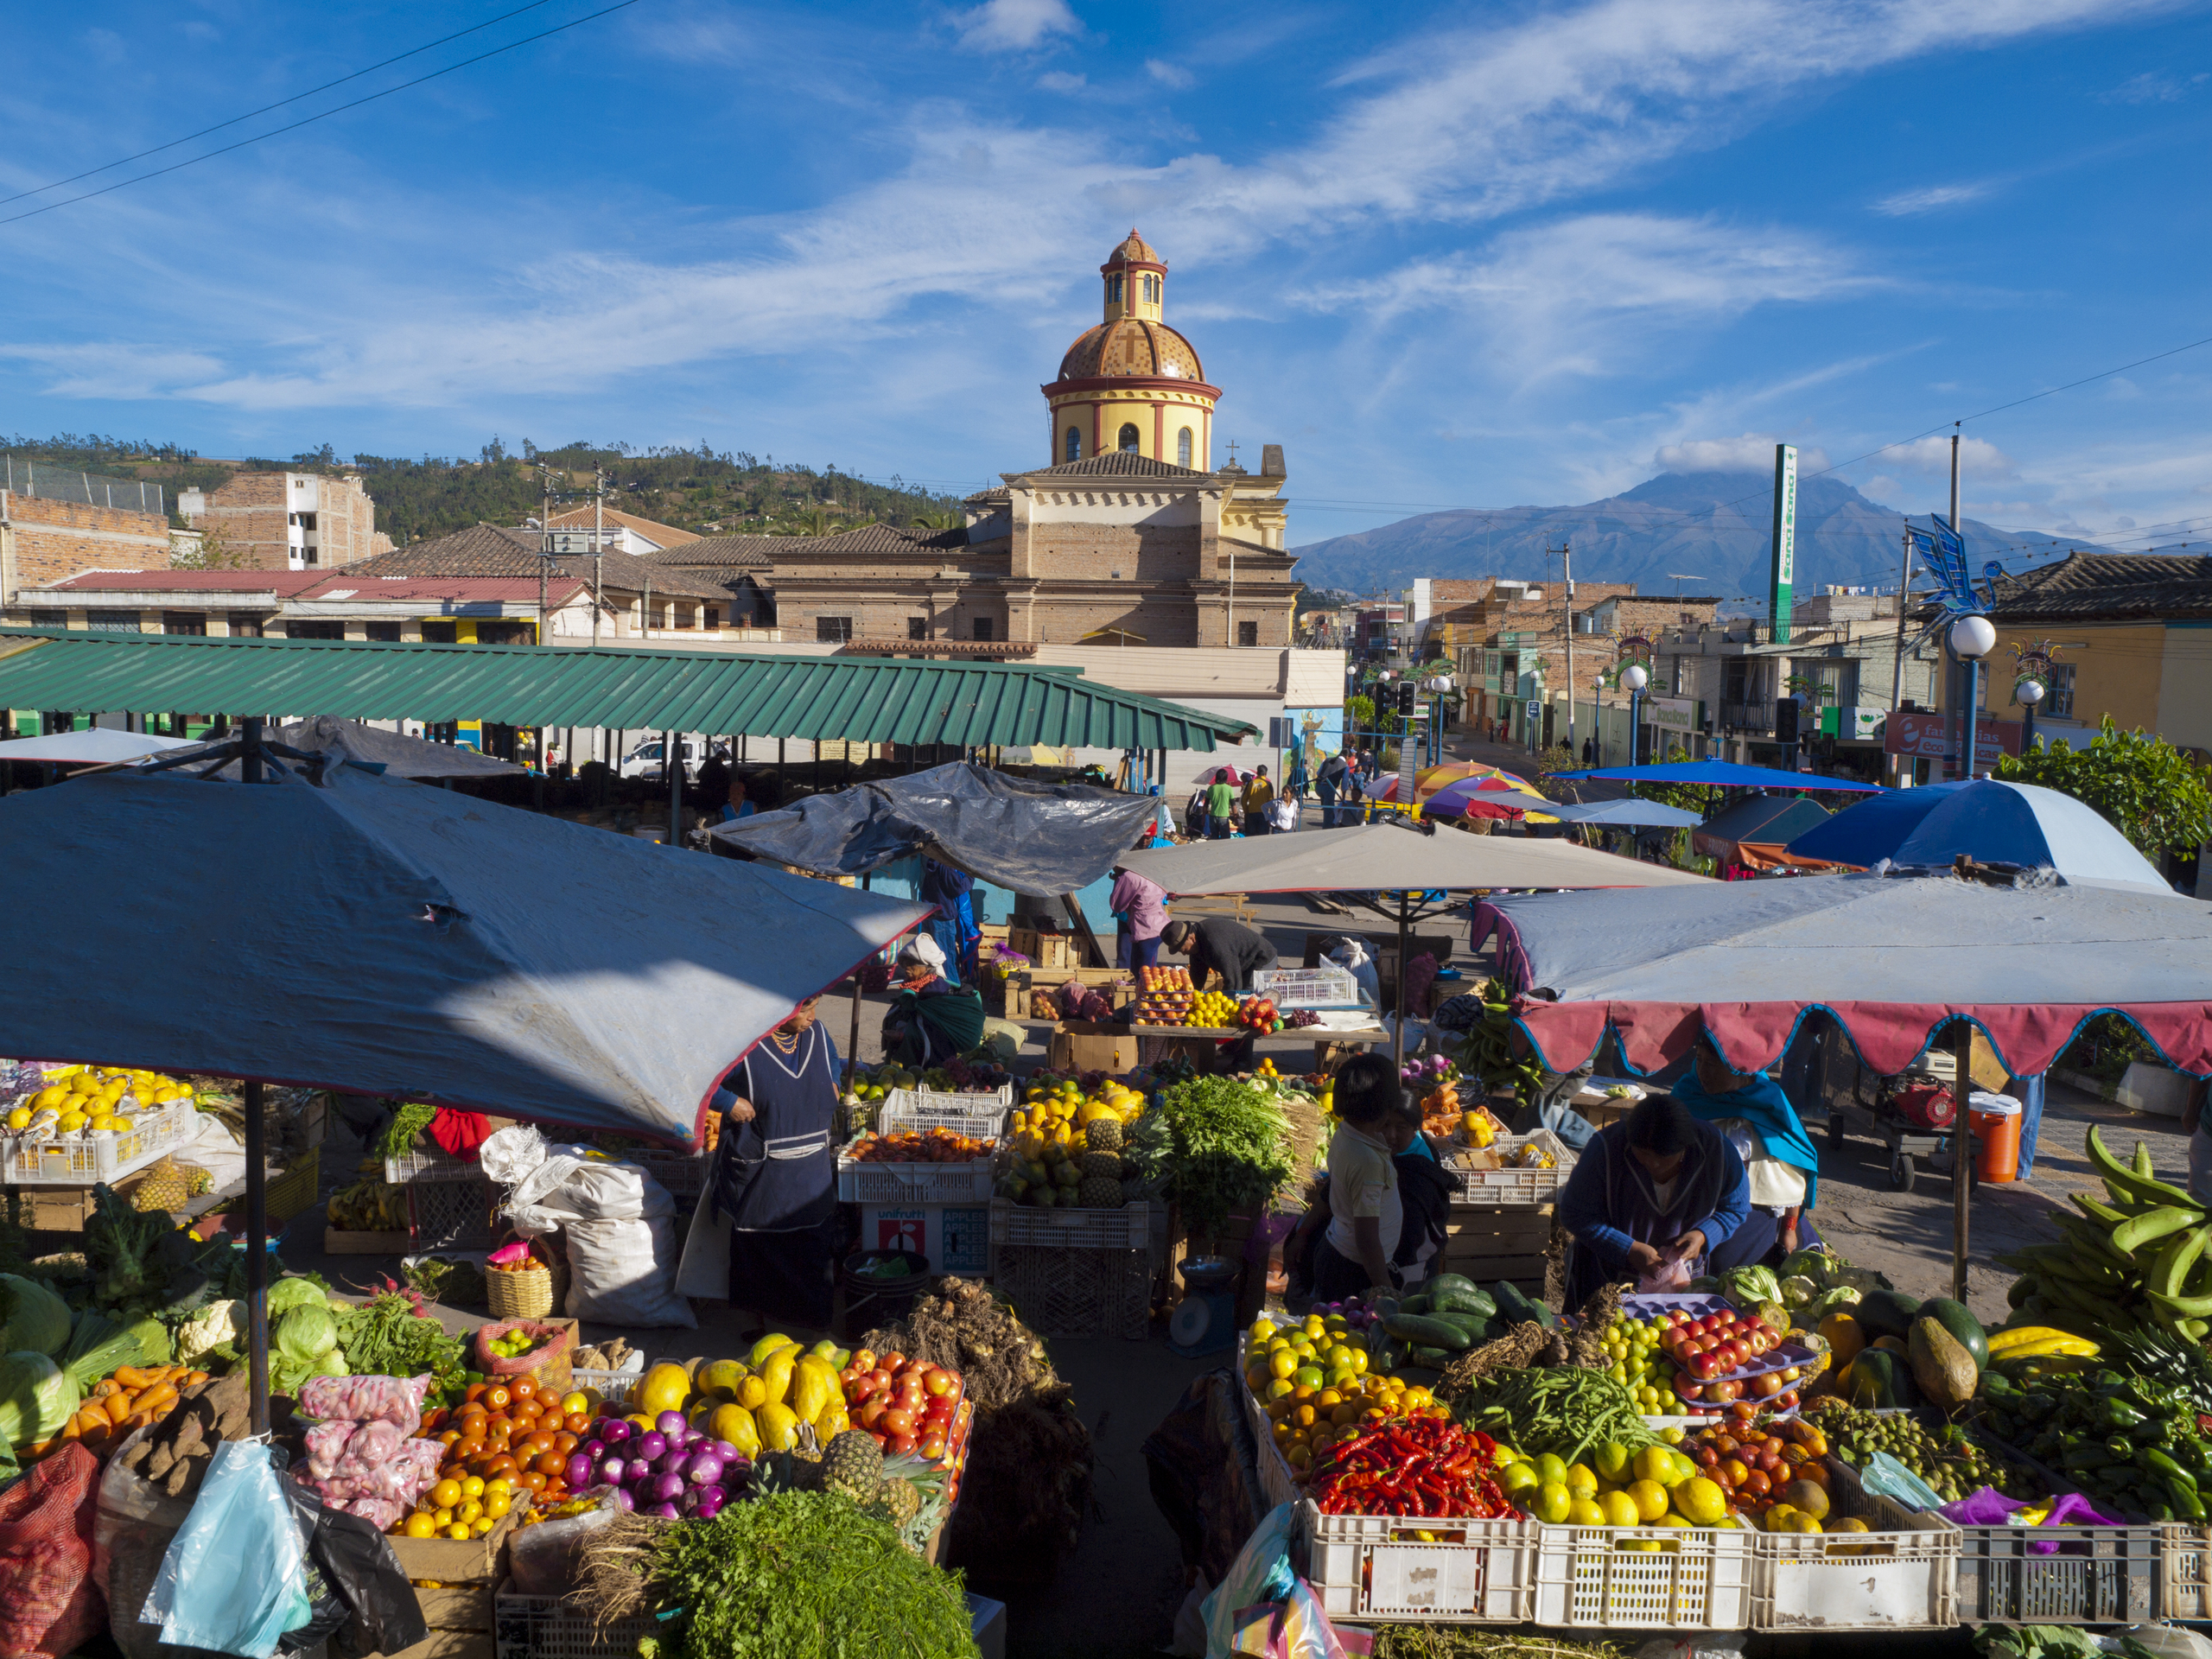
[[[1969,1015],[2015,1077],[2048,1071],[2101,1009],[2181,1071],[2212,1073],[2212,905],[1953,876],[1798,876],[1694,891],[1486,900],[1500,971],[1553,1071],[1610,1026],[1637,1071],[1710,1031],[1736,1071],[1774,1064],[1827,1009],[1871,1071],[1905,1071]]]

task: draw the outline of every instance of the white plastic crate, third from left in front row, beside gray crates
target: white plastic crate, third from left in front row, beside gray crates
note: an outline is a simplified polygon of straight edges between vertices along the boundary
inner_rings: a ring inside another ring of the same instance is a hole
[[[1958,1624],[1960,1531],[1869,1493],[1834,1458],[1829,1504],[1869,1533],[1752,1533],[1754,1630],[1942,1630]]]

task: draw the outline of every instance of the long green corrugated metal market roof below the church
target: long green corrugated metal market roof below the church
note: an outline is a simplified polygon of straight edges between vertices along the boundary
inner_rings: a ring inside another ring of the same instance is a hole
[[[0,628],[0,708],[1212,750],[1259,734],[1073,668]]]

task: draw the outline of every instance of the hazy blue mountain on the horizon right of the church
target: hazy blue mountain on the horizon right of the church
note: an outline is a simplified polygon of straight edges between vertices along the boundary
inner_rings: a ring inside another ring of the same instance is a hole
[[[1396,524],[1334,535],[1292,549],[1310,588],[1396,591],[1416,577],[1559,577],[1575,551],[1577,582],[1635,582],[1639,593],[1767,597],[1767,542],[1774,500],[1770,473],[1659,473],[1624,495],[1586,507],[1504,507],[1420,513]],[[1927,518],[1913,522],[1927,524]],[[1840,478],[1798,482],[1796,593],[1820,584],[1896,588],[1902,575],[1905,515],[1869,502]],[[1966,555],[2035,553],[2039,535],[1966,520]],[[2026,549],[2022,544],[2028,544]],[[2053,544],[2057,555],[2079,542]],[[1686,580],[1674,582],[1674,573]]]

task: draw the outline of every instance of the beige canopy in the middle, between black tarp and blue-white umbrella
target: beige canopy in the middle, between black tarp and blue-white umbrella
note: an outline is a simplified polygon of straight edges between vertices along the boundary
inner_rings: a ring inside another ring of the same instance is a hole
[[[1641,865],[1571,841],[1422,834],[1402,823],[1298,830],[1245,841],[1152,847],[1121,860],[1177,896],[1464,891],[1473,887],[1712,887],[1705,876]]]

